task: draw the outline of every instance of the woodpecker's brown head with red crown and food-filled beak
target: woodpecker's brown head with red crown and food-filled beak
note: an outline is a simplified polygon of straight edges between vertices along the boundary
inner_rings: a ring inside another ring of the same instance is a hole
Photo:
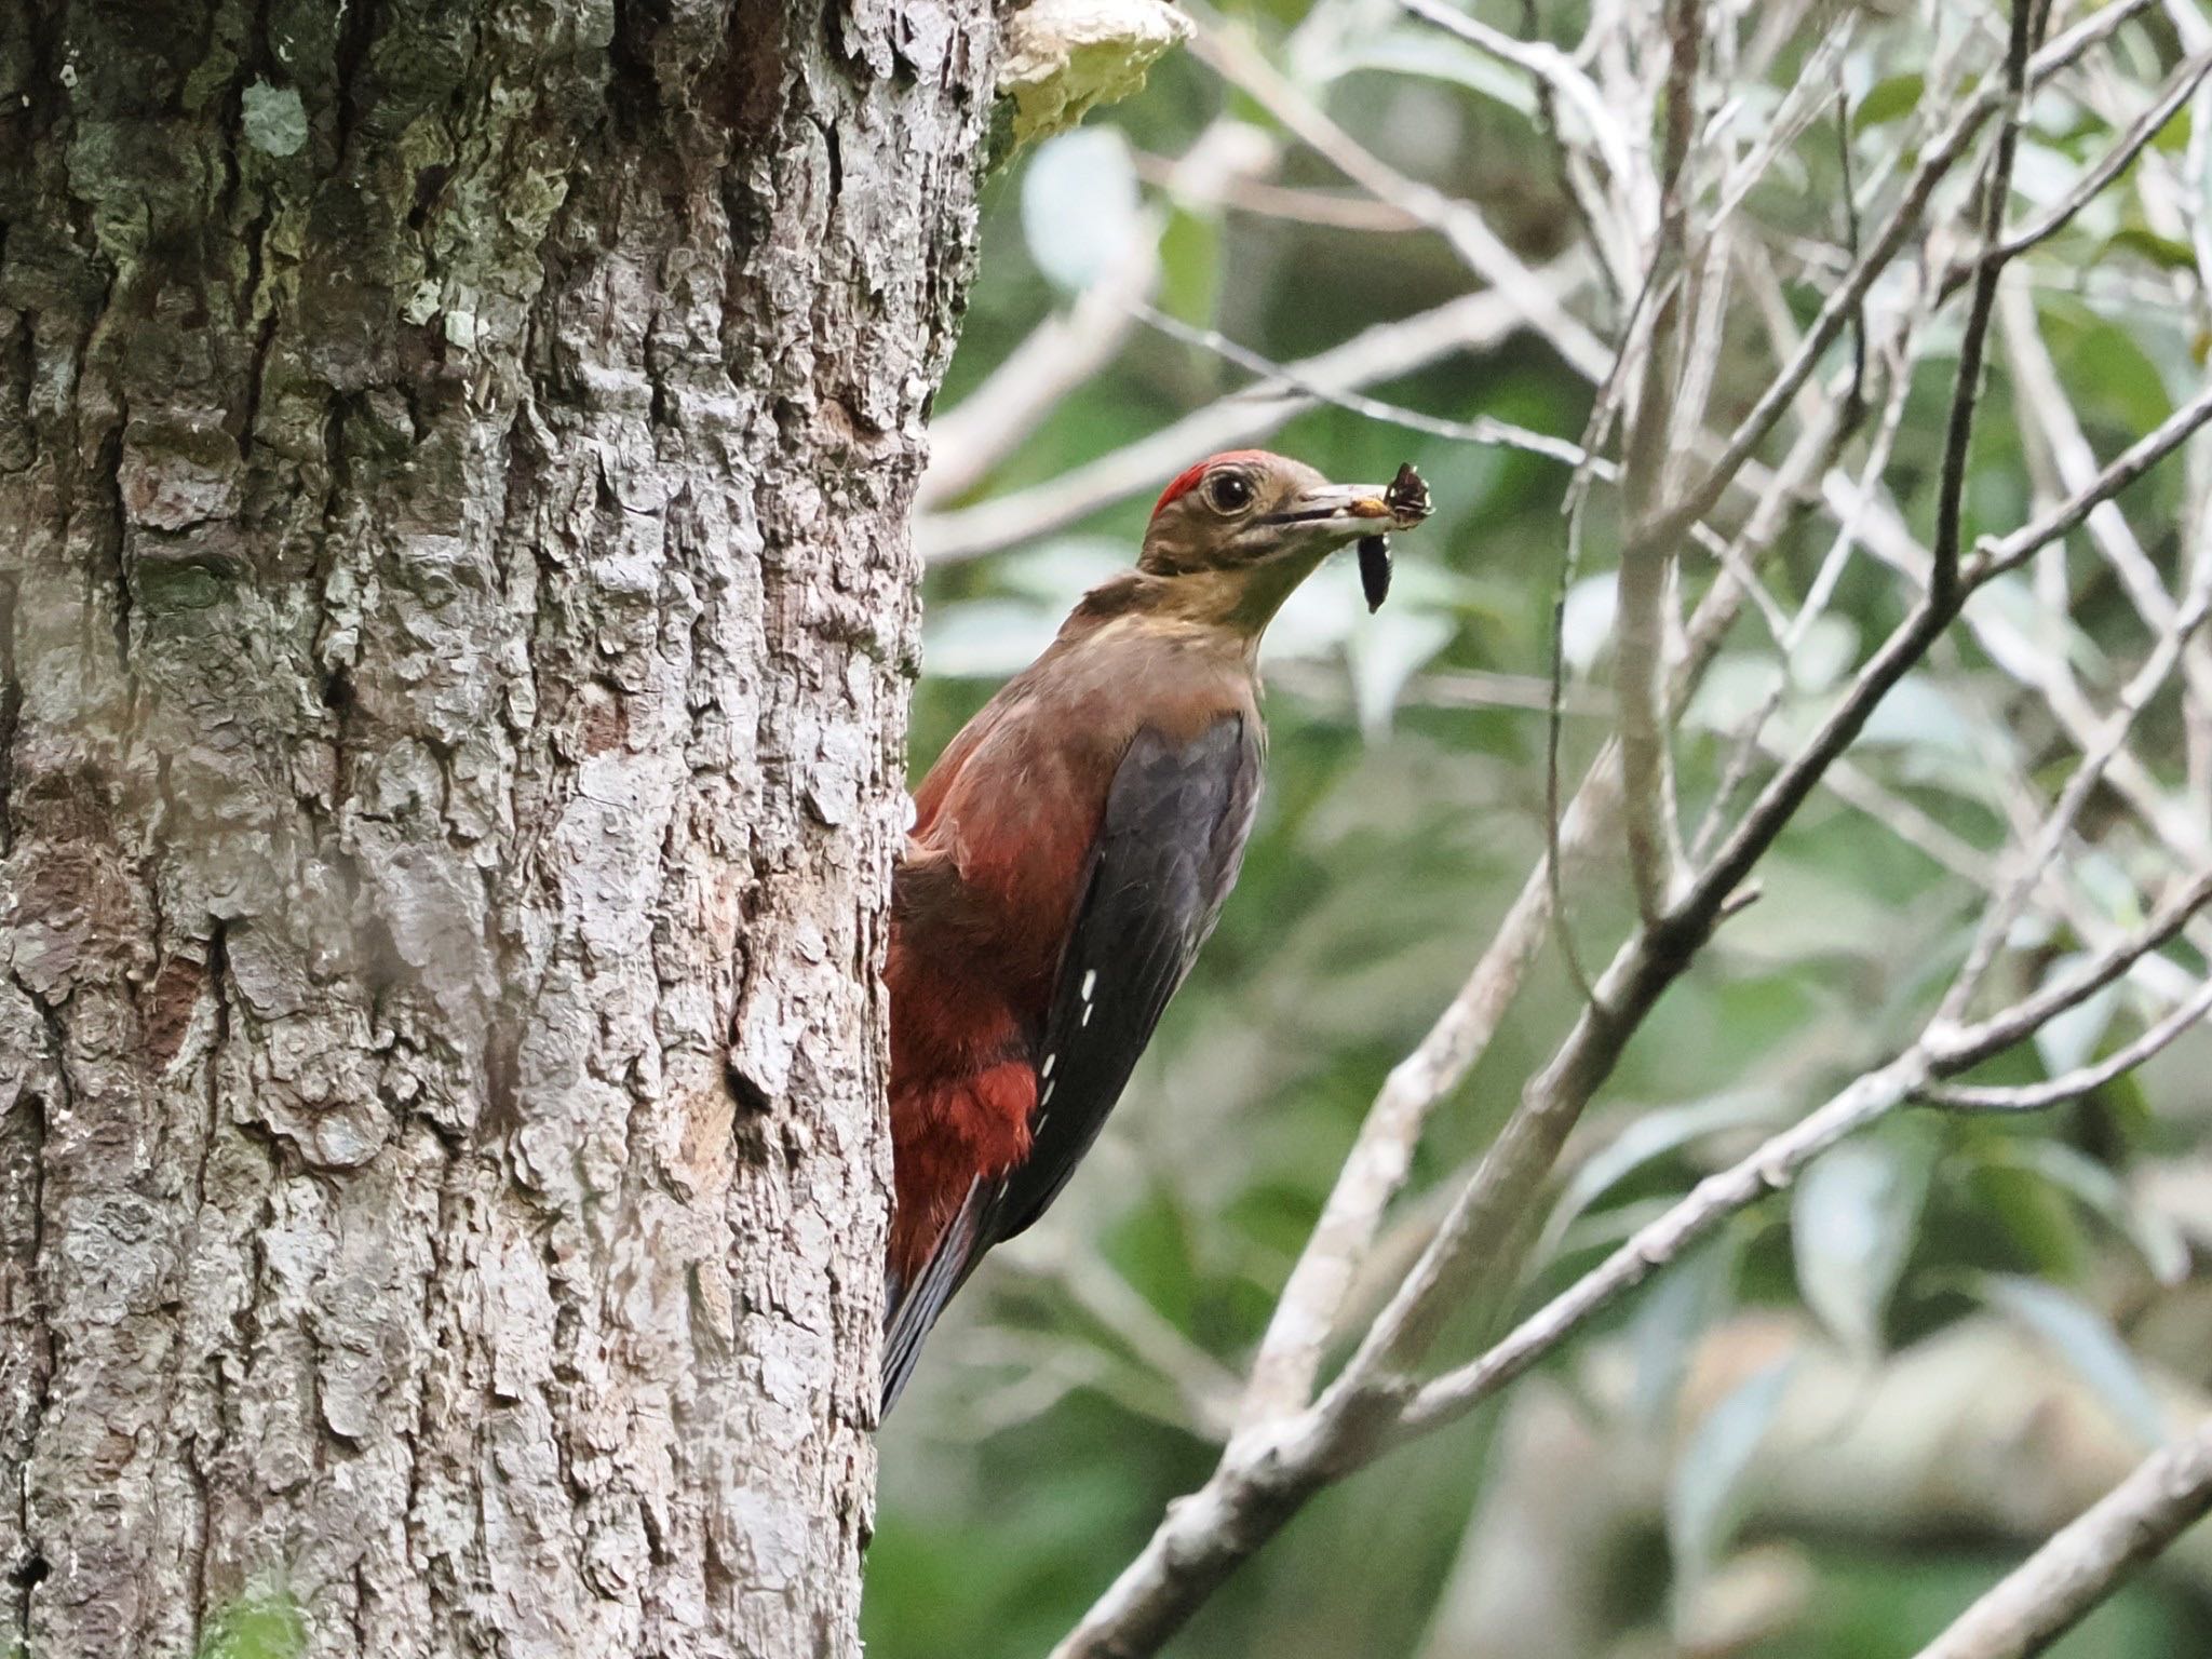
[[[1159,608],[1259,635],[1329,553],[1427,515],[1411,469],[1396,484],[1332,484],[1305,462],[1232,449],[1159,493],[1137,568]]]

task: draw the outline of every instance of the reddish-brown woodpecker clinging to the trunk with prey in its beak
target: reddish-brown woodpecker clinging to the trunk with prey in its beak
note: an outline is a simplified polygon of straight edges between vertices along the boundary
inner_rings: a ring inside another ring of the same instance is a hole
[[[1323,557],[1429,515],[1411,467],[1332,484],[1259,449],[1159,495],[914,796],[891,885],[889,1411],[945,1303],[1060,1194],[1237,880],[1259,799],[1259,637]]]

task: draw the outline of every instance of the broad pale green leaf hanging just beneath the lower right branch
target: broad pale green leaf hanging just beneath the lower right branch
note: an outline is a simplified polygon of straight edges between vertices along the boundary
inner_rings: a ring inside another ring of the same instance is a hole
[[[1860,1358],[1882,1347],[1882,1314],[1911,1254],[1936,1135],[1900,1119],[1823,1152],[1790,1206],[1790,1245],[1805,1305]]]

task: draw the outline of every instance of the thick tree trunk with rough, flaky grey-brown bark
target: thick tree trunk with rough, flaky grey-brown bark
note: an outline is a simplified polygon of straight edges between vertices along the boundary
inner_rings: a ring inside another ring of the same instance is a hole
[[[0,1652],[856,1650],[993,51],[0,9]]]

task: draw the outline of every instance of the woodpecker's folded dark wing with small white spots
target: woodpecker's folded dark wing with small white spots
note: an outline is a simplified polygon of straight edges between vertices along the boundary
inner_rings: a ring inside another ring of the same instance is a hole
[[[1029,1157],[984,1203],[984,1245],[1033,1223],[1091,1150],[1237,880],[1259,734],[1228,714],[1188,743],[1137,732],[1106,794],[1037,1046]]]

